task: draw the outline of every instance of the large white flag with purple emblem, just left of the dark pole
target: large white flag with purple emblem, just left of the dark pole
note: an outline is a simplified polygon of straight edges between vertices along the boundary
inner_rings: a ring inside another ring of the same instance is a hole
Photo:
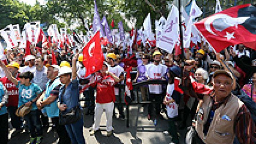
[[[167,18],[164,30],[159,33],[156,45],[159,48],[172,53],[176,41],[178,40],[178,9],[173,5]],[[160,32],[160,31],[158,31]]]

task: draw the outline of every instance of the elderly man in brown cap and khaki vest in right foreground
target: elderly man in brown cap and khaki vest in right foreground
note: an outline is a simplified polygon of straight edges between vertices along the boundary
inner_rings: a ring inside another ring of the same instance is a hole
[[[191,76],[185,75],[191,80]],[[185,84],[186,82],[184,82]],[[213,94],[204,94],[203,103],[195,120],[193,144],[241,144],[255,143],[255,124],[246,105],[231,90],[235,89],[235,78],[230,72],[217,70],[212,76]],[[193,91],[190,96],[198,97]],[[190,89],[191,90],[191,89]]]

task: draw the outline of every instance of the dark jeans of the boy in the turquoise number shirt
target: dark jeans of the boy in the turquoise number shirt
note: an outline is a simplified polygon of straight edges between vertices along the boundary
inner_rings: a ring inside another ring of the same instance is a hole
[[[36,136],[43,136],[43,129],[39,120],[39,110],[30,111],[24,118],[27,122],[32,138],[35,138]]]

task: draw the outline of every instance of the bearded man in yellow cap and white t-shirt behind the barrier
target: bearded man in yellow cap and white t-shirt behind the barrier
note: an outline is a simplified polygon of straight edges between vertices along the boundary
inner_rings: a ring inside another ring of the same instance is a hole
[[[146,77],[148,80],[164,80],[167,66],[160,63],[162,54],[159,51],[153,53],[154,63],[146,65]],[[149,100],[152,102],[155,99],[156,102],[156,116],[160,116],[160,104],[163,101],[163,86],[161,84],[149,85]],[[152,115],[152,104],[148,105],[148,116],[147,119],[151,120]]]

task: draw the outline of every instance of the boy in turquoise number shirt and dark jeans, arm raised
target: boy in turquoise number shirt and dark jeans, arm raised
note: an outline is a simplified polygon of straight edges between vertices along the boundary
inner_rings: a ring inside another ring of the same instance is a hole
[[[39,110],[36,107],[36,100],[42,93],[42,89],[36,84],[31,83],[34,74],[31,72],[24,72],[19,75],[20,80],[16,80],[6,68],[3,62],[0,62],[0,66],[3,68],[5,75],[13,84],[19,89],[19,101],[18,107],[25,104],[26,106],[32,105],[31,111],[24,116],[28,129],[30,130],[31,138],[30,143],[39,144],[43,136],[43,129],[39,120]]]

